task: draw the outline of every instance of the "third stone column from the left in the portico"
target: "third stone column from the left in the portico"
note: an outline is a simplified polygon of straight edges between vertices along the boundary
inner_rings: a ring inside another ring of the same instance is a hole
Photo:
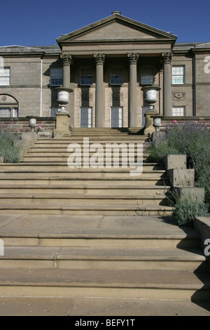
[[[128,126],[137,127],[137,62],[138,53],[127,54],[130,64],[129,116]]]

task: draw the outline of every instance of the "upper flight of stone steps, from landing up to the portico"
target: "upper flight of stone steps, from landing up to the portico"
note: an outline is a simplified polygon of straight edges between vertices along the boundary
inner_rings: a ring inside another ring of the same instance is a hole
[[[171,214],[172,208],[165,197],[169,179],[162,164],[144,163],[143,173],[133,175],[131,171],[136,170],[135,164],[121,166],[122,150],[116,166],[113,166],[116,159],[113,159],[112,152],[111,168],[104,161],[97,163],[96,169],[91,166],[87,169],[83,166],[70,168],[67,164],[71,154],[67,152],[69,143],[81,145],[83,165],[83,157],[94,154],[87,152],[84,140],[88,145],[101,143],[103,147],[106,143],[126,145],[137,154],[137,144],[145,145],[146,138],[127,130],[119,133],[111,129],[82,129],[74,130],[71,137],[38,139],[21,164],[1,164],[0,213]]]

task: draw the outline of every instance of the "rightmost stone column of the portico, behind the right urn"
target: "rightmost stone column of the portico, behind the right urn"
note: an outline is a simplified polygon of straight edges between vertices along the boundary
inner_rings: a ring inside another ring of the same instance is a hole
[[[162,53],[163,62],[163,115],[172,116],[172,53]]]

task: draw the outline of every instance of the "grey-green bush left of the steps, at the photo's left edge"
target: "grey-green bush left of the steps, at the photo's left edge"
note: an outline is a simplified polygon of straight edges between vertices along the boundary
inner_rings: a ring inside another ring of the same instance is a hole
[[[15,143],[18,138],[8,131],[0,131],[0,156],[4,163],[20,161],[20,145]]]

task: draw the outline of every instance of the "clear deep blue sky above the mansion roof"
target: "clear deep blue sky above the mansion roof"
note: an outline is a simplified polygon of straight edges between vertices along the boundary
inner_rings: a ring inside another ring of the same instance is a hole
[[[210,1],[1,0],[0,46],[56,44],[62,34],[121,11],[121,15],[178,36],[177,42],[210,41]]]

